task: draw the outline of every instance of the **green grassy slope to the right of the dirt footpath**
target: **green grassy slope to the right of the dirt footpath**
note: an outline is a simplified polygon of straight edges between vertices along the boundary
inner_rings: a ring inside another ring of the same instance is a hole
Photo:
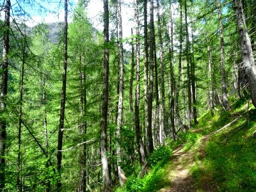
[[[209,134],[207,142],[198,147],[203,158],[195,156],[191,168],[198,188],[207,183],[218,191],[256,191],[256,109],[247,110],[246,100],[241,99],[231,111],[215,112],[213,118],[210,113],[201,116],[197,128],[203,127],[202,134],[238,119],[220,132]]]

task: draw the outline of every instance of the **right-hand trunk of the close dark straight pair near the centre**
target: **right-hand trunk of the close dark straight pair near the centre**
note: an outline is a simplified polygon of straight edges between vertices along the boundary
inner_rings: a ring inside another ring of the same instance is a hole
[[[153,76],[154,76],[154,0],[150,0],[150,52],[149,52],[149,86],[148,86],[148,152],[153,152],[152,137],[152,102],[153,102]]]

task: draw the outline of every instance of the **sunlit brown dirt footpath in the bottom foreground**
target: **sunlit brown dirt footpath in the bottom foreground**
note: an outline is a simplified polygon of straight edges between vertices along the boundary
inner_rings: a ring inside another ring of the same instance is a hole
[[[182,146],[173,151],[172,156],[172,171],[168,177],[172,178],[170,187],[163,188],[161,192],[178,192],[178,191],[196,191],[195,181],[189,173],[189,168],[194,164],[194,157],[189,152],[183,152]]]

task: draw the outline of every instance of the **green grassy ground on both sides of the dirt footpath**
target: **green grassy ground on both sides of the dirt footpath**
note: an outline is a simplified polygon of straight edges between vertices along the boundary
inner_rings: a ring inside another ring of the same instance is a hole
[[[172,151],[180,145],[195,161],[190,173],[198,191],[256,191],[256,109],[245,99],[231,108],[200,116],[193,129],[179,132],[179,140],[169,139],[154,151],[145,177],[131,175],[116,191],[159,191],[172,185]]]

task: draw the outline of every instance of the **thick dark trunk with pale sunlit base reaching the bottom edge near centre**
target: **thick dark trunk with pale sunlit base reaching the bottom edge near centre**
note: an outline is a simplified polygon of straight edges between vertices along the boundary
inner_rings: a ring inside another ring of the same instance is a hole
[[[102,161],[102,176],[104,192],[111,191],[110,175],[108,170],[107,157],[107,127],[108,127],[108,93],[109,93],[109,10],[108,0],[104,0],[104,76],[102,92],[102,115],[100,120],[100,154]]]

